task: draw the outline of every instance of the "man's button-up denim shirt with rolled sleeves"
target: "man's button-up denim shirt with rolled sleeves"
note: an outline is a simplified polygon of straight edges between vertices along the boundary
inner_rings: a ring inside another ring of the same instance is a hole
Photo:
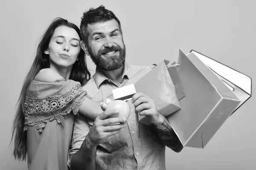
[[[112,90],[121,87],[129,78],[145,66],[128,65],[125,63],[121,82],[117,85],[96,68],[84,90],[96,102],[112,94]],[[131,113],[127,126],[120,133],[105,139],[96,149],[96,170],[165,170],[165,145],[160,141],[153,125],[147,126],[138,122],[134,105],[128,101]],[[76,116],[70,159],[80,149],[93,120]]]

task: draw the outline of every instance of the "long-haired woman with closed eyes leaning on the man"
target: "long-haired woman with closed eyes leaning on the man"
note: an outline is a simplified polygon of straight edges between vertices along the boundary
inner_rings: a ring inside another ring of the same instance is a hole
[[[81,87],[90,79],[90,72],[80,40],[76,25],[56,18],[43,34],[26,75],[12,140],[15,159],[26,160],[28,156],[29,170],[68,170],[74,114],[82,105],[79,113],[90,119],[102,112],[99,103],[88,99]]]

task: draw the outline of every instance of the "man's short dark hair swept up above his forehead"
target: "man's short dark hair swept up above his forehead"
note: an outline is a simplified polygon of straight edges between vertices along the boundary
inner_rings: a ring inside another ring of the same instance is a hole
[[[119,30],[122,35],[120,21],[112,11],[105,9],[105,6],[101,5],[98,8],[90,8],[89,11],[85,11],[83,13],[83,17],[81,17],[80,23],[80,32],[82,40],[87,43],[89,36],[87,30],[88,24],[104,23],[106,21],[113,19],[116,20],[116,22],[118,23]]]

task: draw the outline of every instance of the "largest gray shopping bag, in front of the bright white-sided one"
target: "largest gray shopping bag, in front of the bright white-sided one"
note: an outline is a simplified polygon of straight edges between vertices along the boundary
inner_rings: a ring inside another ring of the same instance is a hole
[[[167,119],[183,146],[204,148],[246,97],[240,99],[239,95],[243,96],[241,88],[237,90],[239,95],[234,93],[233,80],[229,77],[221,79],[223,74],[217,74],[198,56],[195,51],[187,56],[181,50],[179,52],[178,71],[186,96],[180,99],[181,109]]]

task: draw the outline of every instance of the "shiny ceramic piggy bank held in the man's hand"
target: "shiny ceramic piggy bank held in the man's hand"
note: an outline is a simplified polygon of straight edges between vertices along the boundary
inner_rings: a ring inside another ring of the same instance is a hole
[[[102,102],[100,102],[100,106],[102,108],[102,111],[119,110],[119,113],[108,116],[109,118],[125,117],[125,119],[127,120],[130,115],[130,106],[127,102],[122,100],[112,101],[111,99],[106,98]]]

